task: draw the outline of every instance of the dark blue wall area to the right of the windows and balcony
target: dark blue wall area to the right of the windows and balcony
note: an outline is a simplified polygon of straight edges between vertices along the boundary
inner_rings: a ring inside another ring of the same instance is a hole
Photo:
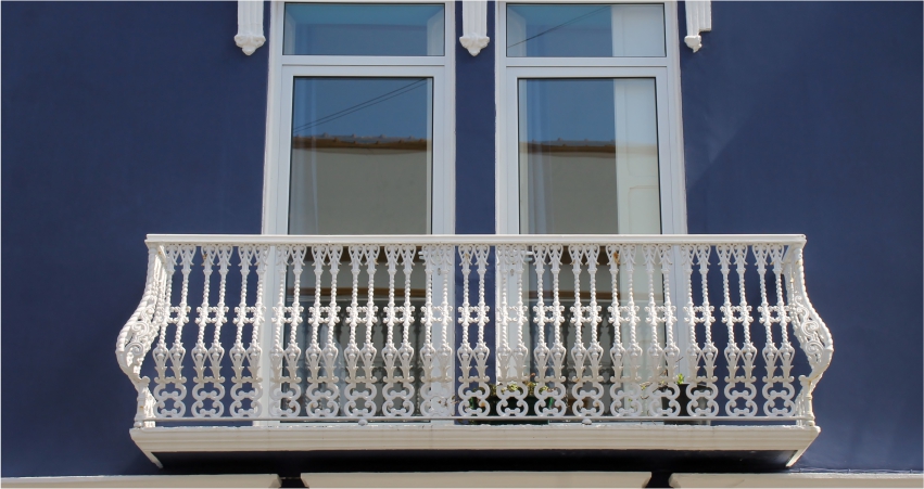
[[[799,467],[922,468],[921,21],[920,2],[712,2],[704,48],[681,49],[689,232],[808,237],[835,351]]]

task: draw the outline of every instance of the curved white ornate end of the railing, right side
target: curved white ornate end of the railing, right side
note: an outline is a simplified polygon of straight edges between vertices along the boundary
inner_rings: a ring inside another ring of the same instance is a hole
[[[812,411],[812,390],[814,390],[822,374],[831,365],[831,357],[834,355],[834,340],[831,331],[822,321],[821,317],[812,307],[806,291],[806,271],[802,261],[802,246],[794,246],[789,250],[786,260],[786,274],[789,285],[790,321],[793,331],[799,339],[806,357],[808,357],[811,372],[800,375],[799,382],[802,390],[799,394],[799,414],[807,416],[805,423],[814,426],[814,412]]]

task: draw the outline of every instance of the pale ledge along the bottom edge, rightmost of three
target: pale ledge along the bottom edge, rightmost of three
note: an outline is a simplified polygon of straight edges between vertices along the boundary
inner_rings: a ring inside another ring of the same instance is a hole
[[[673,474],[671,487],[924,487],[922,474]]]

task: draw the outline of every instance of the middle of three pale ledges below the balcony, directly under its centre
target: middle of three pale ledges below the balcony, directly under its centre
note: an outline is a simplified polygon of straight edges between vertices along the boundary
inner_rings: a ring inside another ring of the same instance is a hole
[[[305,486],[318,488],[367,487],[645,487],[650,472],[441,472],[302,474]]]

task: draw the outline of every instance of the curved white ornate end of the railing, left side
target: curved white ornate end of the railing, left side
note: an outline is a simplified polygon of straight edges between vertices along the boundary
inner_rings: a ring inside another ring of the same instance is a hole
[[[157,249],[151,247],[148,250],[148,280],[144,284],[141,303],[122,327],[115,342],[115,357],[118,360],[118,366],[122,368],[122,371],[125,372],[125,375],[138,390],[138,411],[135,414],[135,427],[137,428],[153,426],[151,422],[143,422],[143,420],[154,416],[154,397],[148,388],[151,379],[141,376],[141,364],[157,335],[157,288],[163,283],[162,275],[163,267],[157,256]]]

